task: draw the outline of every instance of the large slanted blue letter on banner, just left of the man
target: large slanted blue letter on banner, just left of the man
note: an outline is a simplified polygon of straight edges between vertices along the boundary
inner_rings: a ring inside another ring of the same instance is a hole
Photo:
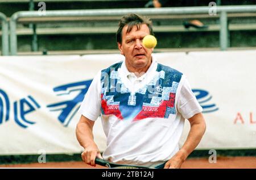
[[[53,89],[57,95],[61,96],[71,94],[73,91],[78,91],[78,95],[70,101],[58,102],[47,106],[50,111],[61,111],[58,119],[65,127],[68,126],[73,116],[78,111],[90,83],[92,83],[92,80],[69,83],[67,85],[57,86]]]

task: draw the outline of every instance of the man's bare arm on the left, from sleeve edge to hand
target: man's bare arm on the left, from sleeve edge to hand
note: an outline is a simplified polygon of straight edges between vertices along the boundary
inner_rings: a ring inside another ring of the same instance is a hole
[[[76,138],[79,144],[84,147],[84,152],[81,154],[82,160],[86,164],[95,166],[95,158],[102,157],[98,146],[93,141],[93,125],[94,121],[81,115],[79,123],[76,126]]]

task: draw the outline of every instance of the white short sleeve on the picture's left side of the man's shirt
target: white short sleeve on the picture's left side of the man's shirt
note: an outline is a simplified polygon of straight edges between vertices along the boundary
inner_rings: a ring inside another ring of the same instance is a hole
[[[85,94],[84,100],[79,108],[81,115],[85,116],[90,120],[97,120],[101,113],[101,103],[100,103],[100,88],[101,88],[101,72],[93,78],[90,87]]]

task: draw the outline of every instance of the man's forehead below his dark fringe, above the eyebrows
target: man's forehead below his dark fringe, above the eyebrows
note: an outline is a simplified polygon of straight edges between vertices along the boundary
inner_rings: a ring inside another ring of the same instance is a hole
[[[139,35],[148,35],[150,34],[150,30],[147,27],[147,24],[141,24],[141,28],[137,30],[137,26],[133,26],[130,32],[127,32],[128,25],[123,27],[122,30],[122,37],[125,38],[126,36],[139,36]]]

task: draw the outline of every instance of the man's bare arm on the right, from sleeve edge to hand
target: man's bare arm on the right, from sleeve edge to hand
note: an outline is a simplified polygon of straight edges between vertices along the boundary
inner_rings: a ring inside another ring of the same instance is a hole
[[[175,156],[166,162],[166,165],[164,166],[164,168],[167,168],[167,169],[180,168],[183,162],[188,157],[188,155],[200,143],[206,129],[206,124],[205,124],[203,114],[200,112],[198,114],[193,115],[188,120],[191,125],[191,129],[188,133],[187,140],[185,140],[184,145],[175,154]]]

